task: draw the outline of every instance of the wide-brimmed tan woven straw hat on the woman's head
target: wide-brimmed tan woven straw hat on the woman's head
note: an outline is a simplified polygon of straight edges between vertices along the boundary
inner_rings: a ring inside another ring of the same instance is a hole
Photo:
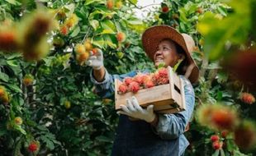
[[[192,84],[197,82],[199,69],[192,58],[193,48],[195,47],[192,37],[188,34],[180,34],[169,25],[154,25],[150,27],[142,34],[142,46],[151,60],[154,61],[154,53],[157,52],[157,48],[163,39],[171,39],[183,48],[187,56],[187,64],[184,67],[186,73],[184,75]]]

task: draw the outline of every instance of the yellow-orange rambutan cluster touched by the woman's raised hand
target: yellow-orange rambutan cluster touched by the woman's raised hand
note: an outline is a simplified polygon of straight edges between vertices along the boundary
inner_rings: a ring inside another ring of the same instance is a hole
[[[97,54],[97,48],[93,48],[90,39],[86,39],[83,44],[76,44],[74,51],[76,53],[76,60],[79,65],[83,65],[90,56]]]

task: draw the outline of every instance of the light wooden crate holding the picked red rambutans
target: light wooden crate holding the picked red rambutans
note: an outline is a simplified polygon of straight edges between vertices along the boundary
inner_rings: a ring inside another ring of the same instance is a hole
[[[118,86],[121,80],[115,80],[115,102],[116,110],[120,105],[126,105],[126,99],[135,96],[140,106],[145,108],[149,104],[154,104],[154,111],[159,113],[181,112],[186,109],[183,80],[173,72],[172,67],[168,67],[169,84],[158,85],[149,89],[140,89],[137,93],[128,92],[118,94]]]

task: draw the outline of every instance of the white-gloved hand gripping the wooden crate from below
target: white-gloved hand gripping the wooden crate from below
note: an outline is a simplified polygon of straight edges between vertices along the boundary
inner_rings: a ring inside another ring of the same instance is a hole
[[[153,122],[155,118],[155,113],[154,113],[154,105],[149,105],[147,108],[141,108],[138,100],[133,96],[130,99],[126,99],[126,104],[125,105],[120,105],[121,111],[118,111],[117,113],[119,114],[125,114],[129,117],[134,117],[138,118],[141,120],[145,120],[146,122]]]

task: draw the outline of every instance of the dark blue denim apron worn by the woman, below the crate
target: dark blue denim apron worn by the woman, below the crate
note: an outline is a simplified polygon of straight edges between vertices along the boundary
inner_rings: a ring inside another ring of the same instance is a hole
[[[149,123],[121,115],[112,156],[178,156],[179,139],[163,140]]]

